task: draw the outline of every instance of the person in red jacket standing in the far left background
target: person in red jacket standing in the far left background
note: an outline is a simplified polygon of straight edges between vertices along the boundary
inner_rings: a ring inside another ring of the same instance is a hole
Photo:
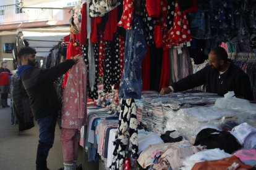
[[[10,85],[10,78],[11,71],[6,68],[7,62],[1,63],[0,68],[0,89],[1,89],[1,106],[2,108],[10,107],[7,105],[7,98],[9,93],[9,85]]]

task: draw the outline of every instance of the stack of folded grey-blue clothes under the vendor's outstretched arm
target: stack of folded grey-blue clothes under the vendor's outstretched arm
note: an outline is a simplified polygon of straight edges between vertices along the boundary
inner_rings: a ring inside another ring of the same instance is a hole
[[[166,124],[166,114],[164,110],[176,111],[179,110],[179,108],[194,107],[197,105],[213,105],[216,99],[220,98],[216,94],[201,91],[186,91],[168,95],[145,93],[142,97],[142,124],[147,126],[149,131],[158,134],[164,133]]]

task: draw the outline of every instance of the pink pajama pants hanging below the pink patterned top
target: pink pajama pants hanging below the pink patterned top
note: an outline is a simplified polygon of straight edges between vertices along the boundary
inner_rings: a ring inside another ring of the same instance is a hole
[[[77,160],[79,150],[78,129],[61,128],[61,143],[64,162]]]

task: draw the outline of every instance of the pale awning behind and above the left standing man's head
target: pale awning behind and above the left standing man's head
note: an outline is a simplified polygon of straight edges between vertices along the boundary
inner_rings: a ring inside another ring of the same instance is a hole
[[[30,47],[36,49],[36,56],[47,57],[58,45],[64,36],[69,35],[69,26],[51,26],[47,28],[22,28],[17,30],[22,39],[26,40]]]

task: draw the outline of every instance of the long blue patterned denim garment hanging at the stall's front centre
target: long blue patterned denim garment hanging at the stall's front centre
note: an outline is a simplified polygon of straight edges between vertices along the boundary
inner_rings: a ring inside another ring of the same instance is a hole
[[[140,99],[142,95],[142,59],[147,53],[147,43],[142,30],[140,17],[134,18],[134,26],[126,31],[124,71],[119,86],[122,99]]]

